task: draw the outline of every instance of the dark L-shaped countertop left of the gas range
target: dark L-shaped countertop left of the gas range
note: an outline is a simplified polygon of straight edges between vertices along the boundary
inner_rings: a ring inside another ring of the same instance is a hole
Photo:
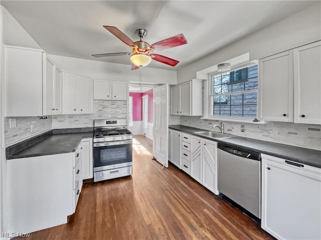
[[[82,138],[93,137],[92,128],[87,128],[91,131],[80,128],[80,132],[70,129],[54,129],[37,136],[37,139],[30,138],[7,147],[7,159],[73,152]]]

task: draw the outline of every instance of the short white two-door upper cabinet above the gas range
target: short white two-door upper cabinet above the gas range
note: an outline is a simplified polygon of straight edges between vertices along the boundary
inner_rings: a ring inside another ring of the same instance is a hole
[[[128,100],[128,82],[94,79],[94,100]]]

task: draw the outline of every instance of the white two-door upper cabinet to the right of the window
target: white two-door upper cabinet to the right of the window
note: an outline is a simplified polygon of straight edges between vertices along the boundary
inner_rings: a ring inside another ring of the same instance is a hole
[[[259,61],[261,120],[321,124],[321,41]]]

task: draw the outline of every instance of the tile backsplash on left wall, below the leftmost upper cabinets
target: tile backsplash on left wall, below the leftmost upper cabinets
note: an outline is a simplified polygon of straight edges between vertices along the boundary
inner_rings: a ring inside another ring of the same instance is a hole
[[[10,128],[10,119],[16,119],[16,127]],[[31,125],[34,129],[31,132]],[[38,116],[5,117],[5,146],[10,146],[52,129],[52,117],[39,119]]]

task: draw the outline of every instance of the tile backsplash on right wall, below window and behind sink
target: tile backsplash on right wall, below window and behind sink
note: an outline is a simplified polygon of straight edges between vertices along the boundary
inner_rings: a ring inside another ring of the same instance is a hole
[[[218,121],[201,119],[199,116],[181,116],[180,118],[180,124],[182,125],[206,130],[213,130],[213,125],[218,124]],[[227,133],[321,150],[320,125],[276,121],[267,124],[222,122]],[[245,125],[245,132],[241,132],[241,125]],[[215,131],[218,131],[218,129],[215,129]]]

